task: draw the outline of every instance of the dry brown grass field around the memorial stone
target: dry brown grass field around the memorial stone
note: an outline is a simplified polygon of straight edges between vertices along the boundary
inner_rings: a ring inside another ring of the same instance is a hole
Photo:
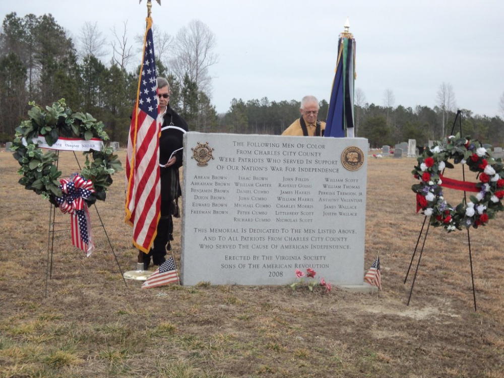
[[[45,297],[49,202],[17,183],[18,163],[0,152],[0,377],[500,378],[504,214],[470,231],[477,311],[467,232],[433,228],[407,306],[412,276],[403,280],[423,222],[410,189],[415,163],[368,161],[365,267],[380,253],[382,292],[126,287],[97,227],[89,258],[72,247],[69,231],[55,233]],[[63,153],[64,177],[75,166]],[[127,271],[137,251],[123,223],[122,177],[97,207]],[[461,196],[446,197],[455,205]]]

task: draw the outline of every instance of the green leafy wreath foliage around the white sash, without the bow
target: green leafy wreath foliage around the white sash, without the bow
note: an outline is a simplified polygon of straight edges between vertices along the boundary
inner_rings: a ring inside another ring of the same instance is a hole
[[[65,103],[65,99],[45,108],[34,102],[29,104],[32,106],[28,110],[29,119],[16,128],[12,145],[13,156],[21,165],[18,173],[23,175],[19,183],[57,205],[55,198],[62,195],[59,187],[61,171],[55,165],[58,156],[52,151],[43,152],[33,143],[33,138],[42,135],[47,144],[52,146],[59,137],[87,141],[92,138],[108,141],[109,137],[103,130],[103,122],[97,121],[89,113],[73,112]],[[23,144],[23,138],[26,145]],[[122,170],[121,162],[117,155],[113,154],[112,147],[106,145],[101,151],[85,151],[83,155],[86,156],[86,161],[81,175],[92,181],[95,190],[94,195],[86,201],[89,204],[96,200],[105,201],[107,188],[112,184],[111,175]]]

